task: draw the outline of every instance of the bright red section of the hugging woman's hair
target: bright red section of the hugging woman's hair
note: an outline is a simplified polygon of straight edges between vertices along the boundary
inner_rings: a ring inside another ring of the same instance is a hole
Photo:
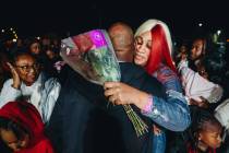
[[[164,62],[177,73],[162,26],[157,24],[150,32],[152,50],[145,66],[146,71],[152,74],[158,69],[159,63]]]

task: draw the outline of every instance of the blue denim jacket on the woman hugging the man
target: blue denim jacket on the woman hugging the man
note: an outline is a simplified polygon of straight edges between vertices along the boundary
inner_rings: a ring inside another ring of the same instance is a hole
[[[154,73],[154,76],[167,89],[167,98],[152,95],[150,110],[142,111],[143,115],[171,131],[185,130],[191,123],[191,117],[179,78],[164,64]]]

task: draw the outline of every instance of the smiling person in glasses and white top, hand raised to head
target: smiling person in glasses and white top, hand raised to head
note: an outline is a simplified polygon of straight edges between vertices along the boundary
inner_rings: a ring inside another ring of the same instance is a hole
[[[8,102],[23,99],[33,104],[47,123],[61,89],[58,79],[40,71],[37,59],[26,51],[15,52],[8,66],[12,79],[4,82],[0,92],[0,108]]]

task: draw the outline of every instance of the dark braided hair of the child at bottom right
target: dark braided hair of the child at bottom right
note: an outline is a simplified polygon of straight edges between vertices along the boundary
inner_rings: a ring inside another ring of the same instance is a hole
[[[195,107],[192,113],[192,125],[189,129],[191,146],[196,150],[198,143],[198,134],[202,130],[206,129],[206,123],[220,125],[220,122],[208,110]]]

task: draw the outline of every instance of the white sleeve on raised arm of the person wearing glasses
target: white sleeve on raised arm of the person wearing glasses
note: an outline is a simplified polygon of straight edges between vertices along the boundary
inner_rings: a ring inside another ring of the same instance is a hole
[[[9,79],[4,82],[0,93],[0,108],[4,106],[8,102],[16,101],[22,95],[21,90],[12,87],[12,79]]]

